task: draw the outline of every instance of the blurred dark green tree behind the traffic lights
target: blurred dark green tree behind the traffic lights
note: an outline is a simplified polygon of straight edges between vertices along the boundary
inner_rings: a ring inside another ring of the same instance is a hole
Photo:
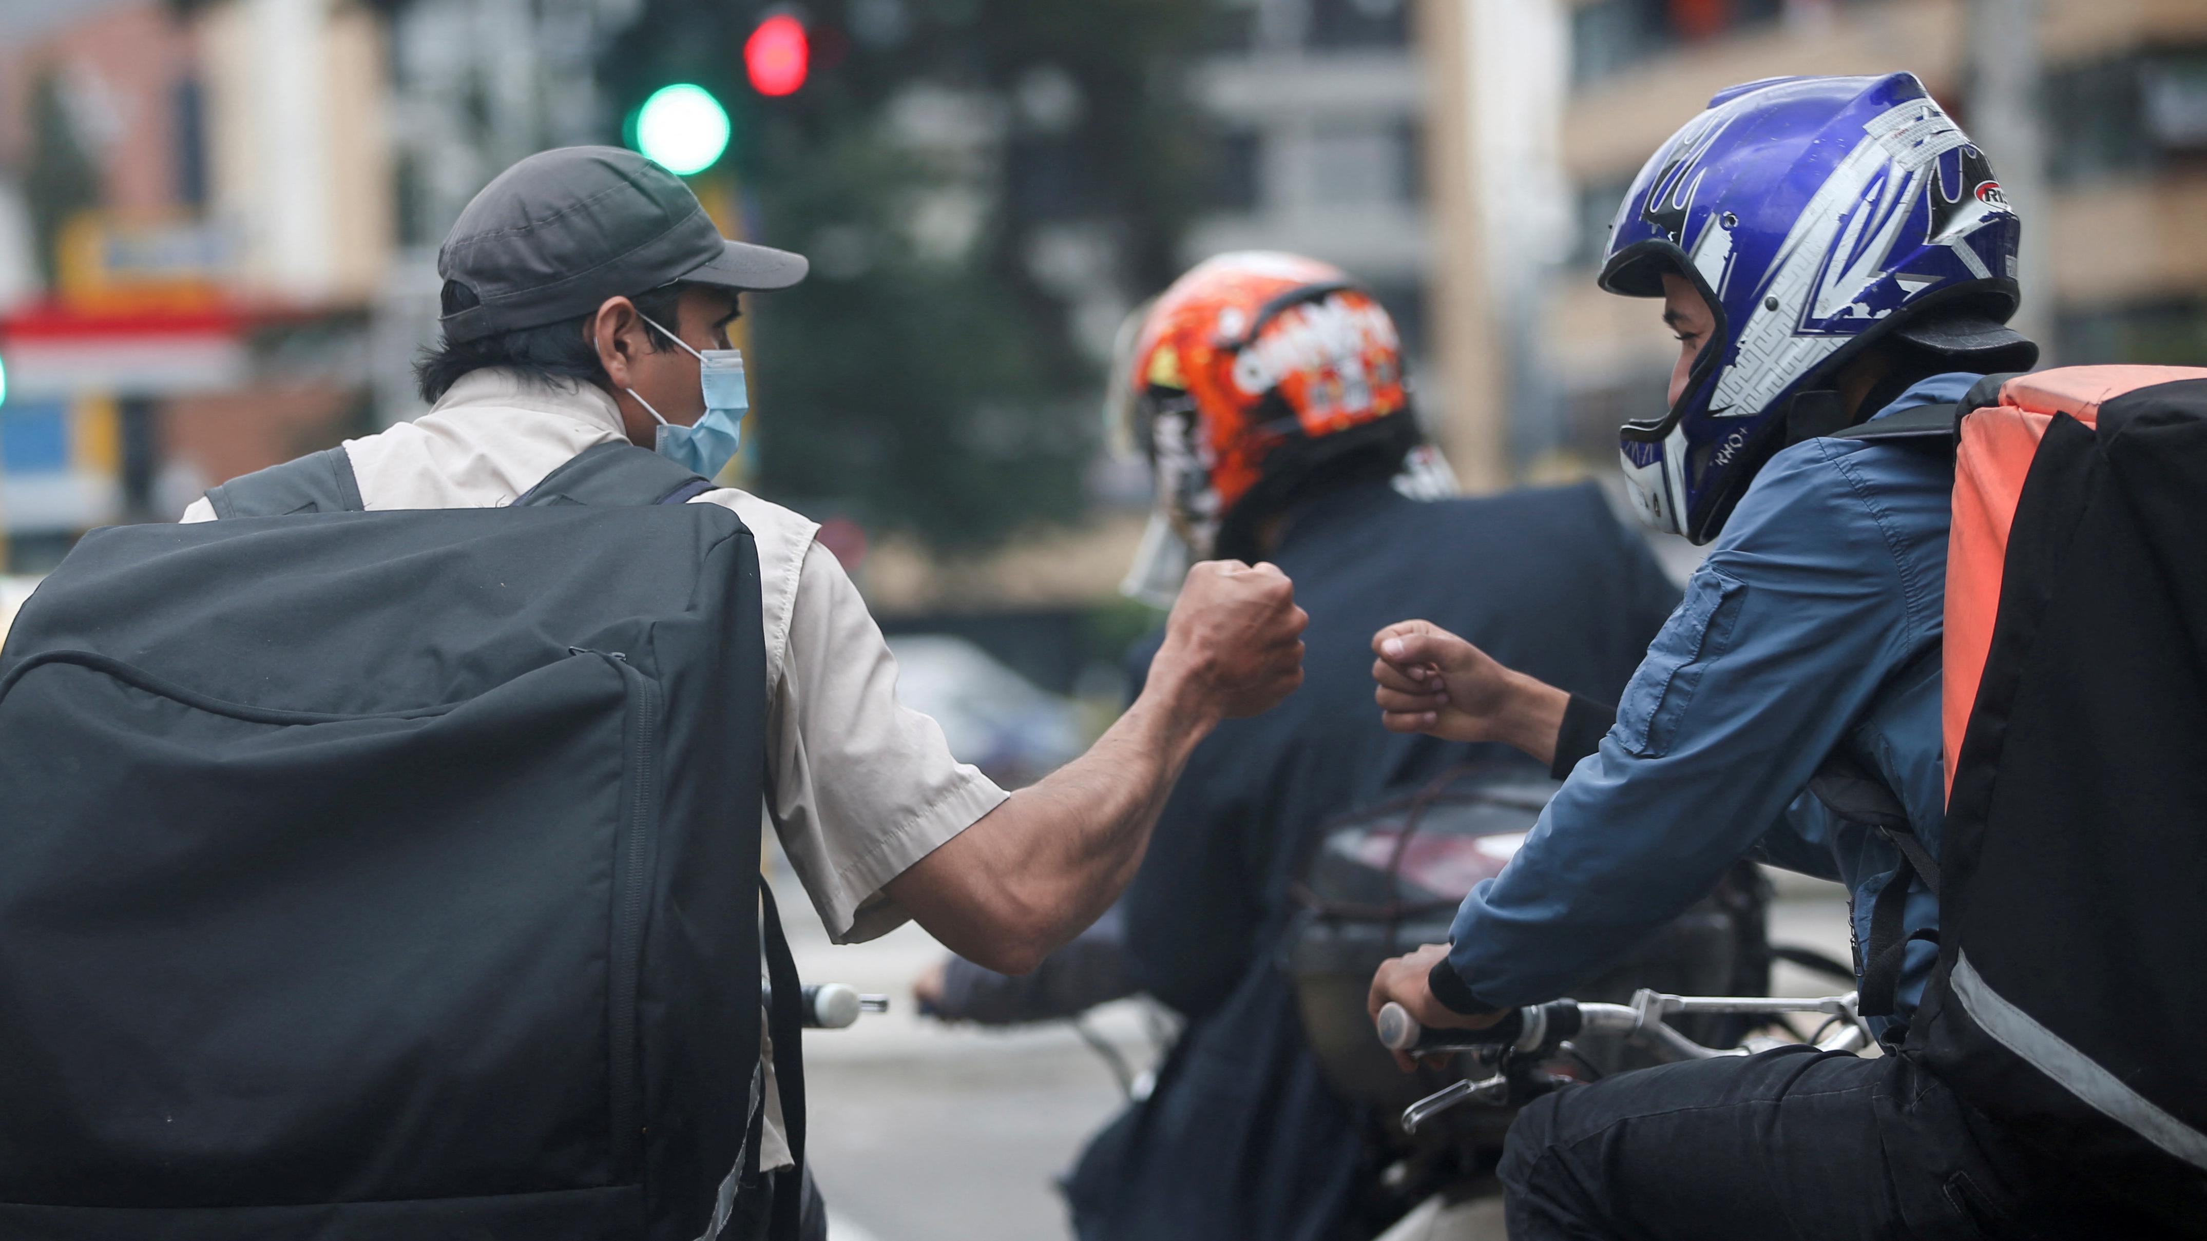
[[[1099,340],[1174,276],[1207,190],[1181,82],[1212,9],[828,0],[810,79],[766,99],[742,44],[788,7],[644,2],[611,97],[713,91],[746,232],[812,258],[748,311],[761,490],[945,552],[1081,515]]]

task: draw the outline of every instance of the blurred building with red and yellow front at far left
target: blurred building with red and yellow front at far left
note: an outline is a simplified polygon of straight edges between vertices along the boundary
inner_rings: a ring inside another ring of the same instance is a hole
[[[340,0],[4,9],[4,568],[360,422],[393,232],[382,64]]]

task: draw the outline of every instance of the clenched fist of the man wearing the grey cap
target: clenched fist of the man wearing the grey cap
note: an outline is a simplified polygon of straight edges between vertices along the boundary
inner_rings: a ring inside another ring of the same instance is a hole
[[[1203,561],[1187,570],[1150,676],[1185,676],[1218,718],[1258,715],[1302,685],[1309,620],[1278,568]]]

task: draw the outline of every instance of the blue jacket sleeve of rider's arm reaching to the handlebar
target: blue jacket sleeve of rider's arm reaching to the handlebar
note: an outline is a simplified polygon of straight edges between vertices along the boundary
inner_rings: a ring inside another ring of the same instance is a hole
[[[1465,897],[1448,961],[1476,1007],[1556,998],[1702,899],[1781,821],[1927,607],[1938,592],[1909,581],[1847,448],[1772,457],[1600,751]]]

